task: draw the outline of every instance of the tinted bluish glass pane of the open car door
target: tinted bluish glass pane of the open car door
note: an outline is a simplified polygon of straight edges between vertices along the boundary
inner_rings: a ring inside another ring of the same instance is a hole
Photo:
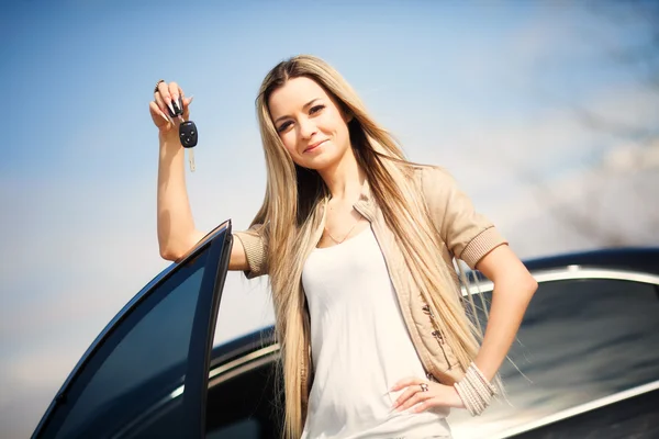
[[[136,419],[161,398],[185,392],[180,386],[208,255],[206,249],[179,267],[116,325],[71,384],[43,437],[141,437]],[[176,431],[178,407],[170,404],[167,416],[153,425],[165,434]]]

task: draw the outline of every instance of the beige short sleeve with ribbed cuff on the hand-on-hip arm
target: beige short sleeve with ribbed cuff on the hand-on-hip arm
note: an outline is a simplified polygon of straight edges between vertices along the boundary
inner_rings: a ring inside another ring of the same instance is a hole
[[[422,185],[428,213],[442,239],[449,251],[471,269],[494,248],[509,244],[494,224],[476,211],[448,172],[424,168]]]

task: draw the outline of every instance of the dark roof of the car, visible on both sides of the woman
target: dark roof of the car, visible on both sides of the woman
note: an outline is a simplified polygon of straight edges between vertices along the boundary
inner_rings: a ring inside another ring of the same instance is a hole
[[[530,272],[569,266],[659,274],[659,247],[607,248],[566,252],[523,260]],[[213,348],[212,367],[276,342],[275,327],[268,326]]]

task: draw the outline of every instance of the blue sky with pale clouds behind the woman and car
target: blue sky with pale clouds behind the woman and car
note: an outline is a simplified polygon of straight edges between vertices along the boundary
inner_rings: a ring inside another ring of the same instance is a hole
[[[454,172],[521,256],[596,247],[525,233],[520,224],[543,206],[528,202],[516,175],[522,168],[557,184],[580,181],[593,157],[618,145],[579,126],[570,105],[635,123],[659,115],[637,72],[607,55],[647,29],[583,4],[3,7],[0,428],[8,430],[0,436],[31,431],[89,342],[167,266],[157,251],[157,133],[147,109],[160,78],[194,95],[200,140],[188,189],[201,229],[230,217],[237,229],[248,225],[265,184],[256,91],[278,61],[311,53],[351,82],[412,160]],[[269,323],[265,282],[231,273],[227,290],[219,340]]]

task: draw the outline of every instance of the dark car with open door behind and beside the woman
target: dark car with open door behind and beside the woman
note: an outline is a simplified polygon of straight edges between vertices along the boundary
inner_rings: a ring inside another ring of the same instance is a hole
[[[32,438],[280,437],[272,327],[213,347],[231,229],[221,224],[123,307]],[[539,288],[500,371],[505,395],[480,417],[454,409],[454,437],[659,437],[659,248],[524,262]],[[488,306],[492,284],[473,274]]]

